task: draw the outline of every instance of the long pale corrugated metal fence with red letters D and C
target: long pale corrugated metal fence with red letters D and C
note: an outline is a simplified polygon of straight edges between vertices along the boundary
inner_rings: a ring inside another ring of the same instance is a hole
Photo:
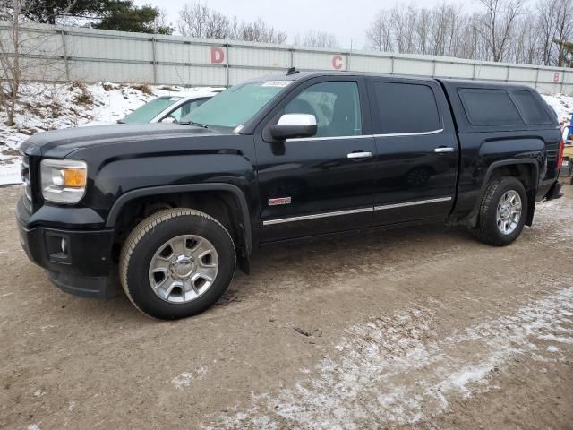
[[[4,42],[8,37],[7,30],[6,24],[0,22],[0,38]],[[299,70],[519,82],[542,93],[573,95],[573,69],[558,67],[446,56],[308,49],[50,25],[27,27],[21,33],[21,40],[23,77],[29,80],[228,86],[296,66]]]

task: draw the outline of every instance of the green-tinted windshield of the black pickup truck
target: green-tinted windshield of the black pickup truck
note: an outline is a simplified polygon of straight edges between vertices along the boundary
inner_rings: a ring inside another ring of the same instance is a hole
[[[265,107],[288,83],[290,81],[235,85],[181,118],[180,123],[235,128]]]

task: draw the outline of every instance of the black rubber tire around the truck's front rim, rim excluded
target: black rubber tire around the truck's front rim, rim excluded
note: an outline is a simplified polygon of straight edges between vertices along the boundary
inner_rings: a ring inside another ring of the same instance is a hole
[[[218,254],[218,272],[201,296],[187,303],[171,303],[155,293],[150,285],[150,262],[159,247],[176,236],[198,235],[206,238]],[[217,219],[192,209],[158,211],[133,229],[125,240],[119,274],[125,294],[143,314],[173,320],[199,314],[225,293],[235,273],[233,239]]]

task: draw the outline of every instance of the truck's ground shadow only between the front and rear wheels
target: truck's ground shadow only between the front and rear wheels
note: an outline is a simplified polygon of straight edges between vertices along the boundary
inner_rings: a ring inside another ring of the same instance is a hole
[[[466,246],[484,245],[475,242],[469,230],[447,228],[443,224],[365,229],[265,245],[252,255],[251,274],[237,270],[217,305],[233,305],[303,284],[308,288],[321,288],[331,282],[334,275],[368,275],[421,264]]]

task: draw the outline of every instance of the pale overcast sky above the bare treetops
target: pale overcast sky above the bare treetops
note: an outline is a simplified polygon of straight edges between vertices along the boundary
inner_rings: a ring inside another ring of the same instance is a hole
[[[432,7],[443,0],[418,0],[408,2],[418,7]],[[152,4],[167,12],[167,20],[176,24],[179,11],[190,0],[136,0],[135,4]],[[287,43],[292,43],[297,33],[322,30],[334,34],[340,47],[363,49],[364,30],[380,9],[391,8],[396,0],[203,0],[212,9],[238,21],[254,21],[261,17],[275,29],[286,31]],[[451,0],[448,3],[475,8],[475,0]],[[351,4],[351,7],[348,5]]]

